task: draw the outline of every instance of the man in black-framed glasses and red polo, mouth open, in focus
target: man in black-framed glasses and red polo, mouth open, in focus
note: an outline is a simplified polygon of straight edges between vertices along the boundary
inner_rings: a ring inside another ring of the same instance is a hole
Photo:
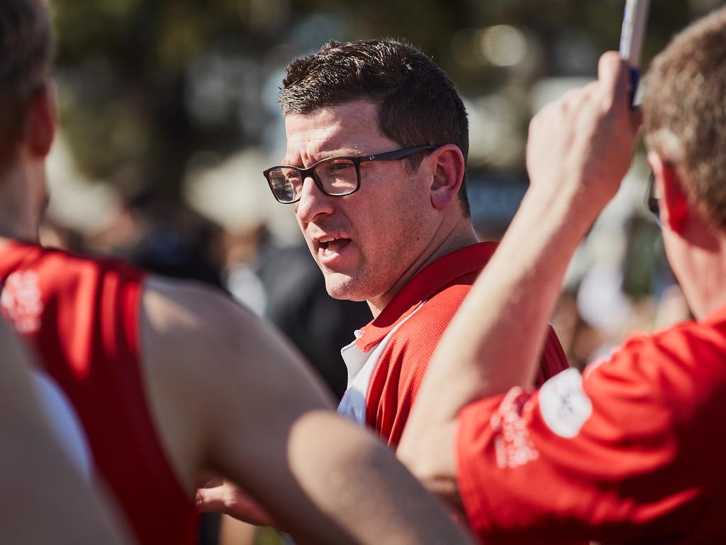
[[[373,320],[342,350],[338,411],[396,445],[439,337],[496,245],[478,243],[452,81],[395,41],[330,42],[294,60],[280,90],[287,152],[264,171],[293,205],[328,293]],[[539,381],[566,367],[550,330]]]

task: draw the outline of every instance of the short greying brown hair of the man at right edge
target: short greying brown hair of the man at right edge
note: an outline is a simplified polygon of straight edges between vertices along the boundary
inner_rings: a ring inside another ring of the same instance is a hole
[[[726,8],[653,60],[643,118],[648,148],[675,167],[689,202],[726,230]]]

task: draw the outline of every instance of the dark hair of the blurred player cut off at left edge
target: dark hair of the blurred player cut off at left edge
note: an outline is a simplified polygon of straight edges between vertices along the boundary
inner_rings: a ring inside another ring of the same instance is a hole
[[[33,92],[49,78],[53,33],[44,0],[0,1],[0,157],[17,146]]]

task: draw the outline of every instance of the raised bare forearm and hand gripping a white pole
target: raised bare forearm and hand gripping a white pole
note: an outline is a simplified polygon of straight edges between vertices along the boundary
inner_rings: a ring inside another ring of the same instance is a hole
[[[640,115],[629,108],[618,57],[603,55],[599,72],[532,121],[530,189],[433,355],[399,447],[431,483],[451,488],[455,479],[455,418],[464,405],[534,382],[566,267],[627,172]]]

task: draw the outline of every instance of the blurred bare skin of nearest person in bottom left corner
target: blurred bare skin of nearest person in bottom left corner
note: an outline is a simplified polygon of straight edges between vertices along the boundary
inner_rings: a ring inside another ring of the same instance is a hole
[[[121,544],[121,530],[52,435],[28,358],[0,320],[3,541]],[[38,487],[41,483],[41,487]]]

